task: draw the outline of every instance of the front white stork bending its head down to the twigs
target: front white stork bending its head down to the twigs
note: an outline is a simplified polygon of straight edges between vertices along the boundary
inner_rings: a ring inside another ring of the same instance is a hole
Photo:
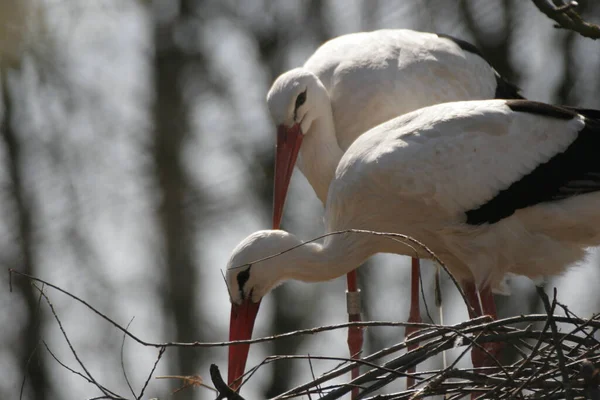
[[[307,130],[328,119],[327,109],[311,104],[302,111]],[[409,235],[482,294],[509,272],[558,274],[600,244],[600,112],[582,112],[587,117],[526,100],[467,101],[381,124],[341,158],[327,197],[326,230]],[[335,137],[321,137],[334,145]],[[226,280],[236,338],[251,337],[262,297],[281,281],[325,281],[375,253],[415,252],[359,233],[300,244],[290,233],[270,230],[234,249]],[[230,347],[230,376],[243,373],[247,350]]]

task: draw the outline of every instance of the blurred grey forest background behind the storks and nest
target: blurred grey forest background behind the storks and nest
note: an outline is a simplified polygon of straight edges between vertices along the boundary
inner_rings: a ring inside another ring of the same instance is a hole
[[[579,3],[584,18],[600,21],[600,2]],[[411,28],[476,44],[529,99],[600,108],[600,42],[553,25],[523,0],[0,0],[0,265],[123,325],[133,318],[130,330],[148,341],[226,340],[220,269],[242,238],[270,227],[275,129],[265,95],[277,75],[334,36]],[[321,205],[298,171],[286,210],[285,229],[305,239],[322,232]],[[361,269],[366,319],[406,320],[407,265],[378,256]],[[430,291],[434,268],[425,265]],[[11,293],[4,277],[0,398],[101,396],[44,347],[80,370],[35,288],[13,277]],[[263,302],[255,336],[344,322],[344,284],[283,285]],[[510,284],[501,316],[539,310],[532,282]],[[546,285],[575,313],[598,311],[595,252]],[[446,282],[444,290],[445,322],[465,319]],[[123,365],[139,393],[157,350],[128,340],[121,361],[122,333],[47,293],[94,378],[131,397]],[[365,349],[402,336],[370,329]],[[345,338],[340,330],[254,345],[249,365],[271,354],[344,357]],[[155,375],[208,379],[210,363],[225,370],[226,354],[169,349]],[[315,364],[315,373],[330,366]],[[310,373],[305,361],[271,364],[243,391],[273,396]],[[180,386],[153,379],[144,398],[213,397],[202,388],[173,394]]]

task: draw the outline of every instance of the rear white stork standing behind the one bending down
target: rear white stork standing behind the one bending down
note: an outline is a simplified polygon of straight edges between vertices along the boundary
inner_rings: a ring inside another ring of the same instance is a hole
[[[273,229],[280,227],[296,157],[325,204],[342,154],[368,129],[429,105],[492,98],[520,95],[465,41],[398,29],[326,42],[302,68],[277,78],[267,96],[277,125]],[[418,259],[412,260],[411,275],[409,321],[420,322]],[[354,270],[348,274],[348,291],[357,291]],[[350,320],[360,320],[359,310],[348,311]],[[348,344],[351,355],[359,352],[361,329],[349,329]],[[230,382],[236,377],[230,375]]]

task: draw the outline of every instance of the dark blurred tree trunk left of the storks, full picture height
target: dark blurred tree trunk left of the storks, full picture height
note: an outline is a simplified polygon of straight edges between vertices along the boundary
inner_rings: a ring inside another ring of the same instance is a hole
[[[154,32],[154,160],[161,196],[158,221],[164,246],[164,313],[172,316],[174,337],[169,340],[182,342],[200,340],[193,222],[186,215],[190,182],[182,159],[182,146],[190,129],[188,105],[182,93],[189,54],[173,42],[180,20],[190,11],[186,3],[179,1],[175,6],[178,15],[167,22],[160,21],[157,15]],[[169,373],[197,374],[198,360],[194,351],[177,349],[174,360]],[[178,399],[193,396],[192,390],[177,393]]]

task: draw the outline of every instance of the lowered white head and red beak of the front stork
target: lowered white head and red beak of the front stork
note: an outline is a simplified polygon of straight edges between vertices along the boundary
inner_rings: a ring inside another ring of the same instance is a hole
[[[225,274],[231,299],[230,341],[252,337],[262,297],[286,278],[284,266],[290,261],[285,261],[288,257],[265,258],[300,243],[294,235],[285,231],[258,231],[233,250]],[[229,346],[228,384],[234,390],[240,383],[235,381],[244,374],[249,350],[249,344]]]

